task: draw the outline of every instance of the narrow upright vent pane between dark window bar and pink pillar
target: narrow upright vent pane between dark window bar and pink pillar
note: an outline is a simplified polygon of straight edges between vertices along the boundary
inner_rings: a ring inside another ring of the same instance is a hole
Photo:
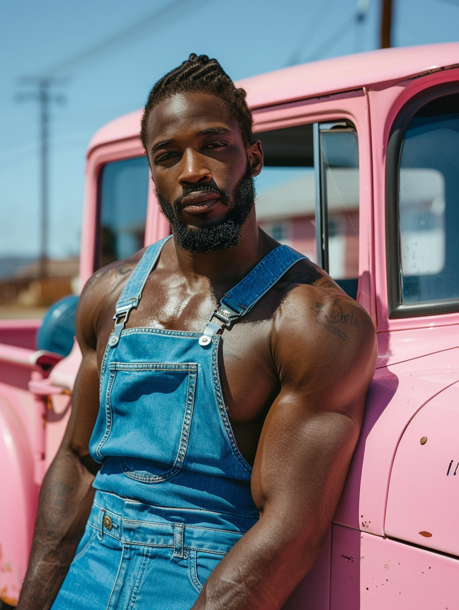
[[[314,125],[316,235],[319,262],[357,298],[358,140],[349,121]]]

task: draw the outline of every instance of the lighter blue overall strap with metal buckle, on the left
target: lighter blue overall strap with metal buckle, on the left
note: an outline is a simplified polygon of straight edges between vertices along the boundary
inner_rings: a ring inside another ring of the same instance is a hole
[[[171,239],[172,235],[165,237],[159,242],[152,243],[151,246],[144,251],[143,256],[139,260],[137,267],[132,271],[127,280],[126,286],[124,286],[123,292],[119,295],[118,302],[116,303],[115,315],[115,328],[109,337],[110,347],[115,347],[119,341],[119,336],[124,328],[124,325],[129,318],[131,309],[137,309],[138,304],[142,296],[143,287],[152,268],[157,263],[163,245],[168,239]]]

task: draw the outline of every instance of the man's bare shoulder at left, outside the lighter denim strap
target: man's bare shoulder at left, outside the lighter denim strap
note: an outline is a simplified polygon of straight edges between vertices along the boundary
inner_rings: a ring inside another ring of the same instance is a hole
[[[76,336],[80,347],[96,349],[98,328],[110,315],[127,279],[141,259],[144,249],[126,260],[116,260],[98,269],[88,279],[78,301],[75,318]]]

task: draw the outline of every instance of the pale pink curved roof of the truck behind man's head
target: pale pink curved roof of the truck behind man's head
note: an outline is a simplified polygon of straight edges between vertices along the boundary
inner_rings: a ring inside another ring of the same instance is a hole
[[[332,57],[237,81],[247,91],[252,110],[337,91],[397,82],[418,74],[459,65],[459,43],[377,49]],[[105,124],[91,138],[87,155],[96,146],[136,137],[143,110]]]

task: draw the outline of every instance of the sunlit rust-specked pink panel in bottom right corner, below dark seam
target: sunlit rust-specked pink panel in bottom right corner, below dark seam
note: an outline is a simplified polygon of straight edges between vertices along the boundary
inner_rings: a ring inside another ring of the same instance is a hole
[[[365,533],[360,556],[360,610],[459,610],[457,558]]]

